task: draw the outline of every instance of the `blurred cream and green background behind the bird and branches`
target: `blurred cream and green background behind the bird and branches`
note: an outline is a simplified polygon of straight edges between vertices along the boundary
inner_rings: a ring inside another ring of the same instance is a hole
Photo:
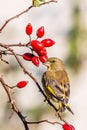
[[[27,9],[30,0],[0,0],[0,27],[10,17]],[[59,0],[58,3],[32,8],[28,13],[9,22],[0,33],[0,42],[5,44],[27,43],[28,36],[25,27],[32,23],[34,31],[38,27],[45,27],[45,37],[52,38],[56,44],[48,49],[48,56],[61,58],[66,64],[70,78],[71,97],[69,104],[75,113],[71,115],[67,110],[63,117],[73,124],[76,130],[87,129],[87,1],[86,0]],[[0,48],[1,50],[1,48]],[[14,48],[15,52],[23,54],[25,48]],[[29,80],[26,88],[15,89],[13,94],[19,110],[27,115],[29,121],[48,119],[59,121],[55,111],[44,102],[42,94],[35,83],[21,71],[15,58],[6,56],[9,65],[0,61],[0,75],[10,86],[20,80]],[[41,64],[35,67],[32,63],[21,58],[26,69],[37,78],[41,84],[41,76],[46,68]],[[3,87],[0,84],[0,130],[24,130],[19,117],[14,113],[11,119],[10,104]],[[30,125],[30,130],[61,130],[59,125],[42,123]]]

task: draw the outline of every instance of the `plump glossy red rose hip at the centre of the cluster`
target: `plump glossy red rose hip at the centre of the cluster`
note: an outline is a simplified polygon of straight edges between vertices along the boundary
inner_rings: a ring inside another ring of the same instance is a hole
[[[32,40],[30,45],[35,50],[43,50],[44,49],[44,44],[39,42],[38,40]]]

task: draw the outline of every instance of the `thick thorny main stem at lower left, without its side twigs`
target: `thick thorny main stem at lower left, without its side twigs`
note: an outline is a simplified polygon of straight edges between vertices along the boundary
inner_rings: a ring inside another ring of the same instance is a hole
[[[19,116],[19,118],[21,119],[21,121],[23,122],[23,125],[24,125],[24,128],[25,130],[29,130],[29,127],[28,127],[28,124],[25,120],[25,117],[22,115],[22,113],[18,110],[17,108],[17,105],[15,103],[15,100],[13,99],[13,96],[12,96],[12,89],[9,88],[9,86],[5,83],[5,81],[3,80],[2,77],[0,77],[0,82],[2,84],[2,86],[4,87],[7,95],[8,95],[8,98],[9,98],[9,102],[11,103],[11,106],[12,106],[12,109],[13,111],[15,111],[17,113],[17,115]]]

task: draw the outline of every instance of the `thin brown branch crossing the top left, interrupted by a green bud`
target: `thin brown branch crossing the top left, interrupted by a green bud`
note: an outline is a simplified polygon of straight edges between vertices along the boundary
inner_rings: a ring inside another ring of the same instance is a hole
[[[42,6],[42,5],[45,5],[45,4],[49,4],[49,3],[52,3],[52,2],[57,2],[56,0],[54,1],[54,0],[49,0],[49,1],[47,1],[47,2],[43,2],[42,4],[40,4],[40,6]],[[25,9],[24,11],[22,11],[22,12],[20,12],[19,14],[17,14],[17,15],[15,15],[15,16],[13,16],[13,17],[11,17],[11,18],[9,18],[8,20],[6,20],[6,22],[2,25],[2,27],[0,28],[0,32],[6,27],[6,25],[10,22],[10,21],[12,21],[12,20],[14,20],[14,19],[16,19],[16,18],[18,18],[18,17],[20,17],[21,15],[23,15],[23,14],[25,14],[25,13],[27,13],[31,8],[33,8],[34,6],[29,6],[27,9]]]

